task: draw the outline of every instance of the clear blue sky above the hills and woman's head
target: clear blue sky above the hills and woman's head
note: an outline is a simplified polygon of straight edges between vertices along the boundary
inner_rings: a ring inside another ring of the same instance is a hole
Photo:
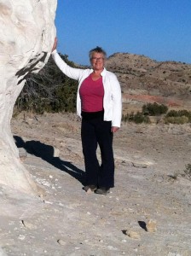
[[[58,0],[58,51],[89,65],[89,50],[191,63],[191,0]]]

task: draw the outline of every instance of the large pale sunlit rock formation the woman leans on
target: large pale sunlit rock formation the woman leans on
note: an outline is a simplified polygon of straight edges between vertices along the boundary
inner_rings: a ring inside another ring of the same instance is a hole
[[[28,73],[48,61],[57,0],[0,0],[0,186],[34,193],[10,130],[14,103]]]

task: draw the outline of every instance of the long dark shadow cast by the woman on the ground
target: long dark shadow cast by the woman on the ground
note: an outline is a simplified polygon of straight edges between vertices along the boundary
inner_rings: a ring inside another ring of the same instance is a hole
[[[25,148],[28,154],[42,158],[52,166],[55,166],[63,172],[67,172],[72,177],[78,179],[80,183],[84,184],[84,171],[78,169],[77,166],[73,166],[71,162],[63,161],[59,157],[55,157],[54,147],[40,143],[39,141],[24,142],[24,140],[18,136],[14,136],[14,142],[17,148]]]

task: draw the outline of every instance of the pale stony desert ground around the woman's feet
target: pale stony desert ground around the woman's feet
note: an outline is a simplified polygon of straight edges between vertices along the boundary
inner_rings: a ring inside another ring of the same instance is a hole
[[[191,255],[191,125],[123,124],[107,196],[82,189],[76,115],[20,113],[11,128],[44,193],[1,187],[0,255]]]

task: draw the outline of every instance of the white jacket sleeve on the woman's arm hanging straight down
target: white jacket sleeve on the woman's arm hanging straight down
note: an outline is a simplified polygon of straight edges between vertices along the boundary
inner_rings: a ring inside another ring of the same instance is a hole
[[[116,75],[113,74],[112,79],[112,101],[113,101],[113,119],[112,126],[120,127],[121,117],[122,117],[122,96],[121,96],[121,87],[119,80]]]

